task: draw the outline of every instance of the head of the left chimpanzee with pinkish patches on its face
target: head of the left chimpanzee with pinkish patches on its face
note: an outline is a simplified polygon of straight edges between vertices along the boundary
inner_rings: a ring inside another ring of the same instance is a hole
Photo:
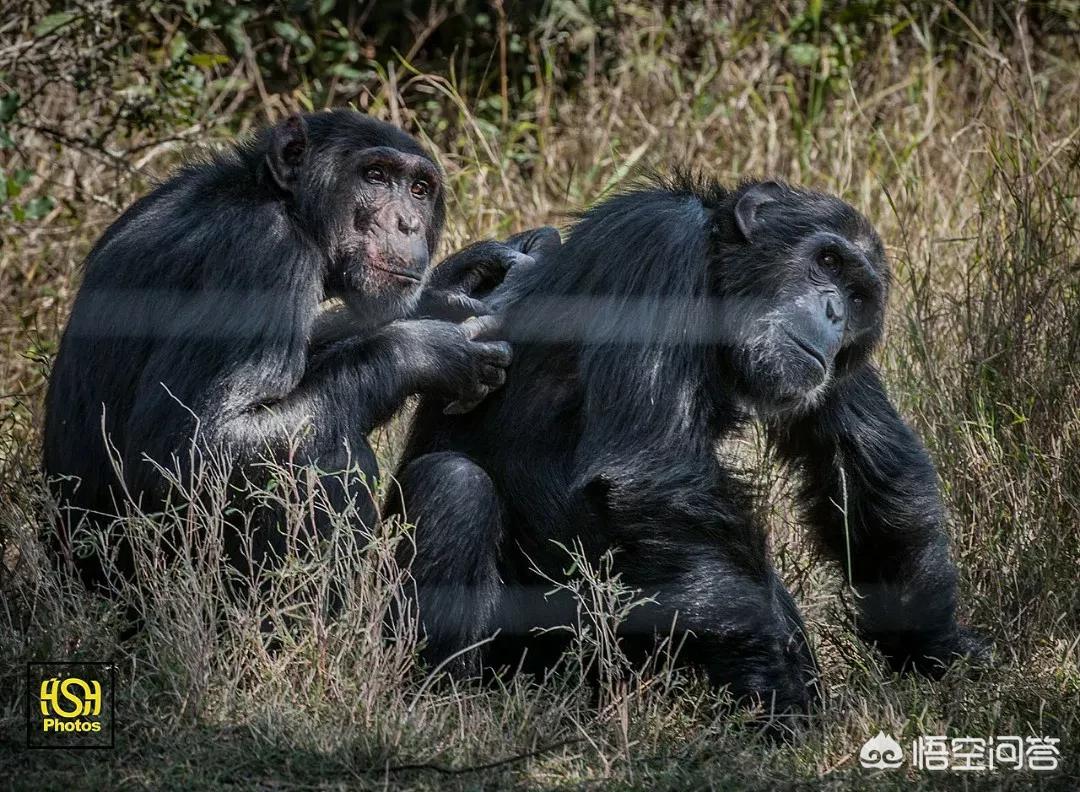
[[[325,256],[325,292],[369,320],[404,314],[443,229],[442,174],[405,132],[351,110],[265,136],[266,173]]]

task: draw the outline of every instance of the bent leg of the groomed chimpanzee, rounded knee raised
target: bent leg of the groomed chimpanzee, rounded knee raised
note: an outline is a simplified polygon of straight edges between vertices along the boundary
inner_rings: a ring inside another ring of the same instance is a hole
[[[502,590],[502,509],[495,485],[467,457],[435,453],[406,465],[397,486],[387,511],[416,526],[401,561],[410,564],[424,660],[449,660],[455,676],[475,675],[484,653],[465,648],[494,632]]]

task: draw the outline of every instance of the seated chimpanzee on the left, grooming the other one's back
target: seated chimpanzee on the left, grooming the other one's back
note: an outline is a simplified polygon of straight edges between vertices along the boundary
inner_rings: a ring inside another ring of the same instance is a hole
[[[499,387],[509,347],[483,337],[487,320],[457,322],[482,308],[474,286],[523,257],[481,243],[429,272],[443,219],[431,156],[341,110],[189,164],[124,212],[90,253],[50,382],[62,554],[76,526],[107,532],[125,498],[163,506],[162,471],[186,482],[192,448],[230,461],[238,487],[268,459],[314,466],[343,499],[375,476],[367,434],[407,397]],[[321,312],[333,297],[346,309]],[[369,498],[361,510],[369,523]],[[282,549],[272,525],[261,536],[245,561]],[[87,547],[76,562],[100,582]],[[124,541],[110,552],[130,574]]]

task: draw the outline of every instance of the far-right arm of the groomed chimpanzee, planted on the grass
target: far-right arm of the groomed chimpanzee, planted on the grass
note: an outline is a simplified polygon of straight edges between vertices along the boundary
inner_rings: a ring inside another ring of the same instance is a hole
[[[771,434],[804,478],[805,519],[859,593],[859,631],[899,669],[977,654],[956,623],[956,567],[926,448],[866,366]]]

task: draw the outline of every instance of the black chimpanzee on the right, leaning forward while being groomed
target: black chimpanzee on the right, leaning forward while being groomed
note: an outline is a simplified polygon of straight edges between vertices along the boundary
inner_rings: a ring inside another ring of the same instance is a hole
[[[713,683],[805,710],[816,666],[801,619],[748,485],[716,454],[752,419],[801,474],[862,636],[930,673],[984,652],[956,621],[934,468],[869,360],[889,271],[862,215],[772,182],[676,178],[537,249],[491,297],[514,345],[507,386],[464,415],[424,399],[397,474],[432,661],[471,674],[525,650],[544,667],[565,632],[534,628],[575,618],[545,595],[566,549],[592,564],[610,550],[649,599],[623,626],[627,652],[674,630]]]

